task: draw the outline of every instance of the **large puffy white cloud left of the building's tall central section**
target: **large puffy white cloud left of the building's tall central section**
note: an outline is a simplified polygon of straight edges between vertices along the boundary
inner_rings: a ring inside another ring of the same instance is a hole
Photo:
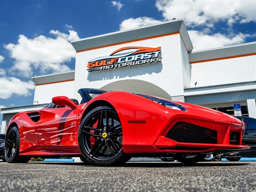
[[[15,59],[11,68],[12,74],[29,77],[33,75],[33,69],[39,69],[42,74],[50,70],[52,72],[70,70],[64,62],[75,58],[76,51],[70,42],[79,39],[77,32],[69,30],[69,34],[65,34],[51,30],[50,34],[56,38],[40,35],[28,39],[20,35],[17,44],[4,45],[4,48],[10,51],[10,56]]]

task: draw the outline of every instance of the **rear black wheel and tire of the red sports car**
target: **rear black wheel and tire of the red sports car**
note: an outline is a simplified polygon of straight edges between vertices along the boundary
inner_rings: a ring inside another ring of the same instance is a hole
[[[17,127],[12,127],[6,136],[5,159],[8,163],[28,163],[30,157],[20,156],[20,133]]]

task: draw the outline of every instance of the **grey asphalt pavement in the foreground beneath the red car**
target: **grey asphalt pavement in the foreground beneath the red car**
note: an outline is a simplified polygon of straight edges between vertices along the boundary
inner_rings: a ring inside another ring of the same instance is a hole
[[[256,162],[0,162],[0,191],[255,191]]]

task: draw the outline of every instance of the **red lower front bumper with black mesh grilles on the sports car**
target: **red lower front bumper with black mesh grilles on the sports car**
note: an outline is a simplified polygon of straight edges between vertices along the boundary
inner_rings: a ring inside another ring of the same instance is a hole
[[[209,153],[248,149],[242,143],[244,124],[209,124],[207,122],[178,121],[155,147],[168,153]]]

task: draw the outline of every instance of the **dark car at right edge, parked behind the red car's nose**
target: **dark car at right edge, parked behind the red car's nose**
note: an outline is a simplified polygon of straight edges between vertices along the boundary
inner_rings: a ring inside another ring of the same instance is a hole
[[[251,148],[241,150],[233,155],[223,154],[220,157],[226,158],[228,161],[239,161],[241,157],[256,157],[256,119],[244,116],[236,116],[236,118],[240,119],[247,125],[242,142]]]

